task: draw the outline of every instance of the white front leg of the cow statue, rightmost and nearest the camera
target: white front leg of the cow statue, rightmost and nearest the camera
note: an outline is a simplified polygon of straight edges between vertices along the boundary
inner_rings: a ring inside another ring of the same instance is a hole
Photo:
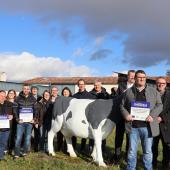
[[[94,136],[94,145],[96,147],[96,163],[98,163],[99,166],[106,167],[106,164],[103,161],[103,155],[102,155],[102,132],[101,128],[93,129],[93,136]]]

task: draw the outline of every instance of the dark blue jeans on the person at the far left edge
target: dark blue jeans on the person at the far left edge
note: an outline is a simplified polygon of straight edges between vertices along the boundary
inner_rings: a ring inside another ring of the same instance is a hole
[[[9,130],[0,131],[0,160],[4,159],[4,151],[8,145]]]

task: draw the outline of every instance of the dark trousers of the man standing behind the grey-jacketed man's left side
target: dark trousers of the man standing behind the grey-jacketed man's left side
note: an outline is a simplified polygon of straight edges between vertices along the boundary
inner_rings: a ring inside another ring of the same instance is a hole
[[[122,118],[116,124],[116,136],[115,136],[115,155],[120,156],[123,144],[123,138],[125,133],[125,120]],[[126,154],[128,153],[129,148],[129,139],[128,135],[126,134]]]

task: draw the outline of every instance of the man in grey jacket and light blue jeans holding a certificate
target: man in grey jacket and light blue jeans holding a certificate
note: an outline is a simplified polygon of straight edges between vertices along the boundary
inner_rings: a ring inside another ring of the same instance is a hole
[[[145,106],[147,107],[145,108]],[[136,110],[133,109],[134,107]],[[161,113],[162,107],[160,94],[156,89],[146,85],[146,73],[143,70],[138,70],[135,73],[134,86],[124,93],[120,105],[126,120],[125,128],[129,135],[127,170],[136,169],[140,140],[144,169],[152,170],[152,141],[154,136],[159,135],[157,116]],[[135,110],[135,115],[132,110]],[[148,115],[146,110],[149,111]],[[146,114],[146,117],[142,114]]]

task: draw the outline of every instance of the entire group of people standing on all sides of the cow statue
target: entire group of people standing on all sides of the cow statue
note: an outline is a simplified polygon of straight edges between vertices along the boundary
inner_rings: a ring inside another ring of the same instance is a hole
[[[78,80],[77,93],[72,94],[71,90],[65,87],[61,95],[77,99],[114,98],[119,101],[116,114],[121,115],[121,120],[116,125],[114,163],[119,163],[122,159],[126,130],[127,170],[136,169],[139,141],[143,150],[144,169],[151,170],[153,166],[156,167],[160,139],[163,146],[162,166],[164,169],[170,169],[170,92],[166,89],[166,79],[159,77],[155,88],[146,84],[147,76],[143,70],[129,70],[127,77],[126,82],[119,84],[117,91],[112,89],[111,95],[99,80],[94,82],[94,88],[90,92],[86,91],[84,79]],[[57,97],[56,86],[52,87],[51,91],[45,90],[42,96],[38,95],[36,86],[30,88],[28,84],[23,85],[18,96],[15,90],[9,90],[7,95],[4,90],[0,90],[0,160],[4,160],[5,151],[13,152],[14,159],[26,156],[31,148],[32,130],[34,151],[48,152],[47,133],[51,128],[53,104]],[[140,118],[133,115],[134,107]],[[2,123],[5,121],[9,122],[8,126]],[[76,148],[76,137],[72,137],[72,143]],[[93,145],[94,141],[90,139],[89,152],[92,151]],[[63,135],[58,132],[57,149],[61,150],[63,146]],[[82,139],[80,150],[86,151],[85,147],[86,139]],[[103,140],[103,152],[105,148],[106,140]]]

